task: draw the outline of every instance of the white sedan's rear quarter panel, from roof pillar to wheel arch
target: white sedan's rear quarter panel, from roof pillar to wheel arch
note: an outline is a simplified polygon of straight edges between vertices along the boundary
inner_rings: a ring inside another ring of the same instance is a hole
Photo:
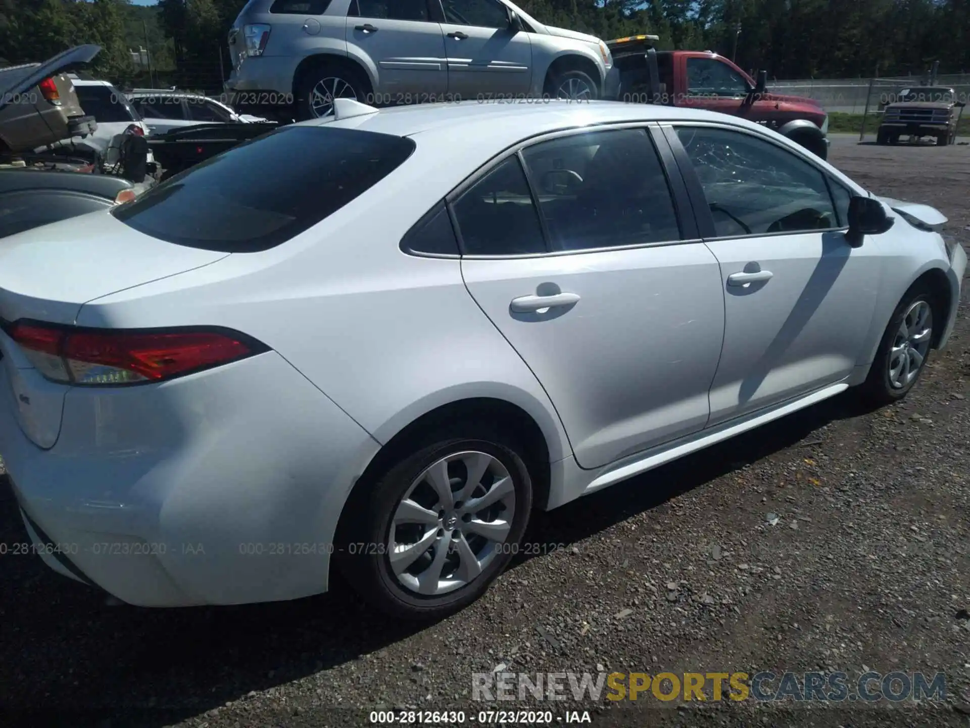
[[[405,163],[412,174],[392,174],[290,242],[95,299],[78,322],[245,332],[382,444],[438,406],[502,399],[533,416],[550,459],[566,457],[552,403],[472,300],[459,260],[399,248],[404,232],[473,168],[470,160],[437,167],[441,153],[419,144]]]

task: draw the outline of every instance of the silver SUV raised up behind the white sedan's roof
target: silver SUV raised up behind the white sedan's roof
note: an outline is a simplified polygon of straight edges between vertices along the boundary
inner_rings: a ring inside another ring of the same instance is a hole
[[[507,0],[249,0],[229,31],[227,103],[262,116],[461,99],[597,99],[619,72],[598,38]]]

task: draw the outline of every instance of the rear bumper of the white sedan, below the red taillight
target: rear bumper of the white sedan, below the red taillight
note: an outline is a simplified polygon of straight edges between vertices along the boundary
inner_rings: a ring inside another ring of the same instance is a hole
[[[376,450],[275,352],[163,384],[72,387],[57,443],[0,451],[45,562],[146,607],[326,591],[332,539]]]

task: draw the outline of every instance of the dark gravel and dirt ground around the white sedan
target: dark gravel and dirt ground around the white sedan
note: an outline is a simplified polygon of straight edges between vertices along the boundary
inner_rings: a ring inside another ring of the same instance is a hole
[[[970,245],[970,147],[831,158]],[[423,629],[354,597],[148,611],[0,555],[0,725],[366,725],[478,711],[472,673],[946,674],[944,702],[570,705],[593,725],[970,724],[970,317],[909,398],[846,396],[551,513],[484,599]],[[0,541],[26,541],[9,490]],[[777,518],[777,521],[775,521]],[[772,523],[774,523],[772,525]],[[774,683],[777,686],[777,681]],[[361,710],[363,709],[363,710]],[[55,720],[56,719],[56,720]],[[554,720],[554,724],[556,721]]]

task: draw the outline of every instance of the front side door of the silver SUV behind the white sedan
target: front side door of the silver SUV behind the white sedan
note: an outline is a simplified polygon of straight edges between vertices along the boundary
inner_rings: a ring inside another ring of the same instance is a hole
[[[505,6],[498,0],[441,0],[441,6],[448,93],[464,99],[527,94],[532,42],[526,31],[509,27]]]

